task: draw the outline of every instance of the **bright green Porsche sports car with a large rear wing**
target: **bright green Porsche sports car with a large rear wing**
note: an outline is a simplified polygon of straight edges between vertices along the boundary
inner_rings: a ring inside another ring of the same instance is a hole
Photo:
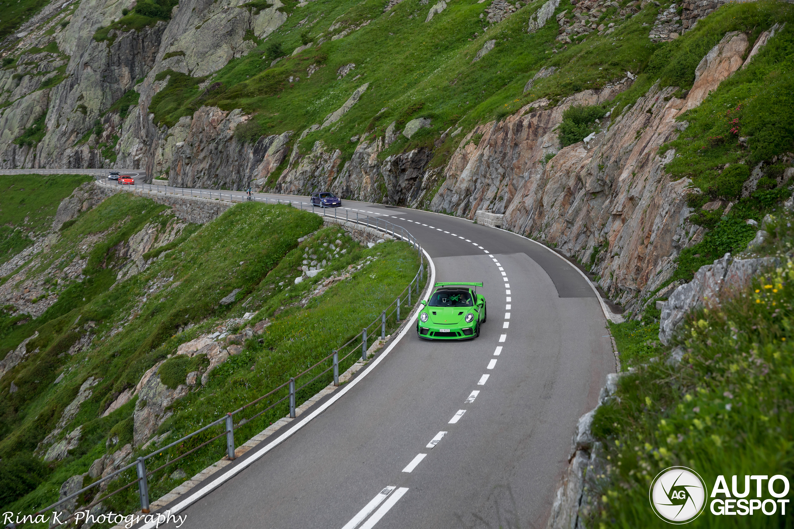
[[[485,323],[485,298],[476,288],[482,283],[436,283],[435,291],[419,312],[416,332],[425,339],[470,339]]]

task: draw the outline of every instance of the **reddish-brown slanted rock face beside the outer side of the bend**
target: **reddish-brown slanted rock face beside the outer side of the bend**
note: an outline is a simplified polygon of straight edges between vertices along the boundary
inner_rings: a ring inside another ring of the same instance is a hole
[[[742,66],[747,46],[743,33],[727,34],[701,61],[685,98],[673,96],[675,87],[653,86],[588,142],[557,151],[545,167],[543,157],[557,149],[554,128],[562,110],[608,100],[630,79],[476,128],[472,135],[483,134],[480,144],[461,142],[431,208],[468,218],[479,209],[503,213],[503,228],[552,243],[567,255],[589,261],[596,252],[600,286],[633,309],[634,301],[673,274],[681,249],[702,237],[700,228],[686,222],[691,211],[684,190],[690,182],[665,174],[675,151],[662,156],[658,148],[685,126],[675,121],[680,113],[700,105]]]

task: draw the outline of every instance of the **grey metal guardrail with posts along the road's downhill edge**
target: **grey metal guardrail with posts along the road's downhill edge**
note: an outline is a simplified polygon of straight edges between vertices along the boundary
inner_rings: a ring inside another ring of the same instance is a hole
[[[102,183],[102,182],[100,182],[100,183]],[[145,186],[149,186],[149,184],[145,184]],[[143,188],[144,186],[138,185],[136,187]],[[159,186],[159,187],[162,187],[162,186]],[[175,188],[171,188],[171,189],[175,189]],[[208,191],[205,192],[205,194],[209,194],[209,193],[210,192],[208,192]],[[220,193],[214,193],[214,194],[215,195],[220,195]],[[228,194],[226,196],[232,196],[233,197],[233,195],[231,195],[231,194]],[[244,195],[244,197],[245,197],[245,195]],[[247,197],[245,197],[245,198],[247,199]],[[268,203],[268,197],[264,197],[264,200],[262,200],[260,198],[258,201],[260,201],[260,202],[264,201],[265,203]],[[273,201],[273,199],[270,199],[270,201]],[[276,202],[279,203],[279,204],[289,204],[289,205],[293,205],[293,206],[295,206],[295,203],[296,203],[295,201],[283,201],[283,200],[280,200],[280,199],[277,199]],[[303,202],[299,203],[299,207],[301,209],[303,209]],[[324,217],[328,217],[327,209],[323,208],[322,209],[322,213],[323,213]],[[341,219],[341,217],[336,217],[335,213],[336,213],[336,210],[334,210],[334,217],[338,218],[338,219]],[[149,512],[148,477],[152,476],[152,474],[154,474],[156,472],[159,472],[160,470],[163,470],[165,467],[167,467],[169,465],[172,465],[175,462],[178,462],[180,459],[185,458],[187,455],[190,455],[190,454],[194,453],[196,450],[199,450],[202,447],[206,447],[206,445],[208,445],[208,444],[210,444],[210,443],[212,443],[212,442],[214,442],[214,441],[216,441],[216,440],[218,440],[218,439],[220,439],[220,438],[222,438],[224,436],[226,438],[225,457],[229,458],[229,460],[235,459],[236,456],[234,454],[234,450],[235,450],[234,431],[237,430],[237,428],[239,428],[242,425],[247,424],[250,421],[256,419],[256,417],[262,415],[264,412],[268,412],[269,410],[275,408],[278,404],[281,404],[282,402],[286,401],[287,399],[289,399],[289,410],[290,410],[289,416],[291,418],[295,418],[296,395],[301,389],[305,388],[307,385],[310,385],[312,382],[316,381],[318,378],[320,378],[323,375],[327,374],[330,370],[333,370],[333,385],[338,386],[339,385],[339,365],[341,364],[341,362],[344,362],[347,358],[349,358],[350,355],[353,355],[354,353],[359,351],[359,348],[360,348],[360,353],[361,353],[361,360],[362,361],[366,361],[367,360],[367,351],[368,351],[368,331],[369,331],[369,329],[372,328],[373,325],[380,324],[380,339],[384,340],[384,339],[386,339],[387,322],[389,320],[391,320],[392,316],[395,316],[395,320],[393,320],[393,322],[398,327],[399,327],[399,324],[402,324],[405,321],[405,320],[400,320],[401,299],[403,300],[403,303],[405,301],[407,301],[409,315],[410,315],[410,312],[414,309],[414,307],[416,305],[418,305],[419,284],[420,284],[420,282],[422,282],[424,280],[424,276],[425,276],[425,274],[424,274],[424,272],[425,272],[424,257],[422,256],[422,247],[419,245],[418,241],[415,240],[414,236],[412,236],[410,234],[410,232],[407,232],[407,230],[404,230],[402,227],[396,226],[395,224],[391,224],[391,222],[388,222],[385,219],[374,218],[375,221],[372,222],[373,217],[367,217],[367,216],[359,217],[358,214],[357,214],[355,220],[349,219],[349,218],[347,218],[347,216],[345,216],[345,220],[347,220],[349,222],[356,223],[356,224],[366,225],[366,226],[369,226],[370,228],[375,228],[376,230],[378,230],[380,232],[389,233],[391,236],[394,236],[395,238],[396,237],[400,237],[401,240],[404,240],[404,241],[414,245],[414,247],[416,247],[416,249],[418,251],[418,255],[419,255],[419,270],[418,270],[418,272],[416,273],[414,278],[410,280],[410,282],[408,283],[408,286],[405,289],[403,289],[403,291],[399,294],[399,296],[395,299],[395,301],[392,301],[386,307],[386,309],[384,309],[380,313],[380,316],[376,317],[375,320],[372,320],[372,323],[368,324],[365,328],[363,328],[361,330],[361,332],[359,332],[357,335],[353,336],[353,338],[349,339],[346,343],[342,344],[337,349],[333,350],[330,353],[330,355],[327,355],[325,358],[322,358],[319,362],[316,362],[313,366],[308,367],[302,373],[295,375],[295,377],[291,377],[289,380],[285,381],[283,384],[279,385],[278,387],[272,389],[268,393],[265,393],[261,397],[256,398],[255,400],[249,402],[248,404],[242,405],[240,408],[237,408],[233,412],[227,412],[225,414],[225,416],[222,416],[221,418],[219,418],[217,420],[214,420],[210,424],[206,424],[205,426],[199,428],[196,431],[192,431],[191,433],[183,436],[181,439],[177,439],[176,441],[174,441],[173,443],[168,444],[165,447],[158,448],[157,450],[154,450],[150,454],[147,454],[147,455],[144,455],[144,456],[141,456],[141,457],[137,458],[137,460],[135,460],[134,462],[130,463],[129,465],[124,466],[121,469],[114,471],[113,473],[108,474],[106,477],[102,477],[98,481],[94,481],[94,483],[91,483],[91,485],[88,485],[87,487],[83,487],[83,489],[80,489],[80,490],[78,490],[75,493],[71,493],[70,495],[64,497],[64,499],[58,500],[58,501],[56,501],[56,503],[54,503],[52,505],[49,505],[46,508],[40,509],[39,511],[37,511],[35,513],[35,515],[39,515],[39,514],[42,514],[44,512],[49,512],[52,508],[55,508],[58,505],[63,504],[65,502],[69,501],[69,500],[73,500],[75,497],[80,496],[81,494],[85,493],[87,490],[92,489],[92,488],[94,488],[94,487],[96,487],[98,485],[101,485],[102,483],[105,483],[107,481],[110,481],[110,480],[114,479],[115,477],[118,477],[121,473],[125,472],[125,470],[130,470],[133,467],[135,467],[135,469],[136,469],[137,479],[135,479],[133,481],[130,481],[129,483],[127,483],[125,485],[122,485],[120,488],[114,490],[112,493],[108,493],[105,496],[102,496],[101,498],[98,498],[98,499],[94,500],[93,502],[91,502],[91,504],[88,504],[88,505],[86,505],[84,507],[81,506],[80,507],[80,511],[75,511],[75,513],[71,514],[71,516],[69,516],[67,519],[64,520],[64,523],[68,522],[72,517],[74,517],[77,514],[77,512],[85,512],[85,511],[91,509],[92,507],[94,507],[95,505],[101,503],[103,500],[106,500],[110,496],[114,496],[114,495],[116,495],[118,493],[121,493],[121,491],[123,491],[125,489],[129,489],[129,487],[135,485],[136,483],[138,484],[138,494],[139,494],[139,496],[141,498],[141,512],[148,513]],[[381,225],[382,225],[382,227],[381,227]],[[390,225],[391,225],[391,230],[389,229]],[[400,228],[400,232],[397,232],[396,228]],[[412,297],[411,297],[412,291],[414,293],[413,299],[416,300],[415,302],[412,301]],[[370,338],[371,337],[372,337],[372,335],[370,335]],[[359,345],[359,340],[360,340],[360,345]],[[344,351],[346,349],[348,349],[348,348],[349,348],[349,351],[346,354],[344,354]],[[339,356],[341,354],[344,354],[344,356],[339,358]],[[329,360],[331,361],[330,362],[330,366],[328,366],[325,370],[322,370],[319,374],[314,375],[313,378],[311,378],[309,381],[306,381],[303,385],[301,385],[301,386],[299,386],[297,388],[295,387],[295,381],[297,379],[303,377],[306,374],[310,374],[310,372],[312,370],[316,369],[318,366],[321,366],[324,362],[328,362]],[[241,418],[241,420],[237,421],[237,424],[234,424],[234,419],[233,418],[234,418],[235,415],[244,412],[246,409],[251,408],[252,406],[255,406],[256,404],[259,404],[261,401],[263,401],[267,397],[271,397],[272,395],[274,395],[275,393],[278,393],[280,390],[282,390],[282,389],[284,389],[286,387],[289,388],[287,394],[284,395],[283,397],[279,398],[278,401],[273,402],[272,404],[268,405],[268,407],[260,410],[259,412],[256,412],[255,414],[253,414],[250,417]],[[184,441],[187,441],[187,439],[191,439],[192,437],[195,437],[195,435],[198,435],[198,434],[202,433],[202,431],[206,431],[207,429],[209,429],[211,427],[218,426],[219,424],[223,424],[223,431],[221,431],[218,435],[214,435],[214,437],[212,437],[211,439],[208,439],[204,443],[199,444],[198,447],[192,448],[191,450],[188,450],[184,454],[181,454],[178,457],[176,457],[174,459],[171,459],[168,462],[165,462],[163,465],[158,466],[154,470],[147,470],[146,469],[146,461],[148,459],[150,459],[150,458],[152,458],[152,457],[154,457],[154,456],[156,456],[158,454],[161,455],[161,454],[163,454],[163,452],[165,450],[169,450],[169,449],[171,449],[173,447],[176,447],[180,443],[183,443]]]

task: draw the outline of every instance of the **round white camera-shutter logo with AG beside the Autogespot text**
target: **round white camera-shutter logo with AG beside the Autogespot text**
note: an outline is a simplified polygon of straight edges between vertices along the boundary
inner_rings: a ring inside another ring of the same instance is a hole
[[[653,478],[649,499],[653,512],[669,523],[689,523],[706,508],[703,478],[685,466],[671,466]]]

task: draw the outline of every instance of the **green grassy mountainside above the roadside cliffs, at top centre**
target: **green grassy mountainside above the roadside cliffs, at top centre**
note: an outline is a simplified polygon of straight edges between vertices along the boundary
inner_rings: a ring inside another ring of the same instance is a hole
[[[424,20],[429,6],[421,6],[418,0],[402,2],[392,10],[394,16],[390,16],[391,12],[382,14],[380,0],[333,5],[311,2],[296,9],[282,28],[267,42],[260,43],[260,52],[234,59],[214,75],[214,81],[222,82],[221,89],[199,97],[197,83],[172,76],[173,86],[158,94],[160,98],[152,110],[156,120],[173,123],[198,105],[218,104],[225,109],[258,113],[263,133],[300,132],[322,123],[326,114],[345,102],[353,90],[370,82],[339,128],[310,134],[301,148],[307,150],[314,140],[324,140],[349,155],[354,148],[349,143],[353,135],[376,128],[382,133],[391,121],[404,123],[420,116],[433,119],[432,128],[418,132],[412,140],[400,136],[382,154],[386,156],[430,145],[450,126],[472,128],[481,121],[514,112],[536,98],[560,97],[603,86],[610,79],[622,78],[627,70],[638,71],[653,53],[647,29],[641,25],[653,21],[655,7],[653,12],[649,7],[638,13],[611,36],[591,36],[584,44],[572,44],[553,54],[553,44],[559,44],[553,40],[558,27],[555,21],[538,33],[526,33],[530,14],[541,5],[538,0],[523,7],[484,34],[479,16],[488,4],[478,4],[476,0],[449,4],[428,23]],[[561,2],[557,11],[563,10],[570,12],[569,2]],[[305,25],[298,28],[304,19]],[[312,25],[315,19],[319,21]],[[284,50],[294,49],[300,44],[299,33],[308,31],[314,39],[318,33],[327,33],[334,20],[354,25],[364,20],[372,22],[342,39],[282,59],[275,67],[270,67],[270,59],[261,55],[273,42],[281,43]],[[619,21],[619,17],[604,17],[605,22],[611,20]],[[474,33],[480,35],[474,37]],[[491,39],[497,40],[495,49],[472,64],[476,52]],[[607,55],[610,60],[604,63],[603,56]],[[313,63],[324,67],[307,79],[306,68]],[[356,63],[357,67],[345,79],[337,80],[337,69],[346,63]],[[562,74],[523,95],[526,80],[547,65],[561,67]],[[354,80],[357,75],[361,77]],[[289,76],[301,80],[290,84]],[[376,117],[384,107],[387,110]],[[455,143],[450,139],[439,148],[434,163],[443,163]]]

